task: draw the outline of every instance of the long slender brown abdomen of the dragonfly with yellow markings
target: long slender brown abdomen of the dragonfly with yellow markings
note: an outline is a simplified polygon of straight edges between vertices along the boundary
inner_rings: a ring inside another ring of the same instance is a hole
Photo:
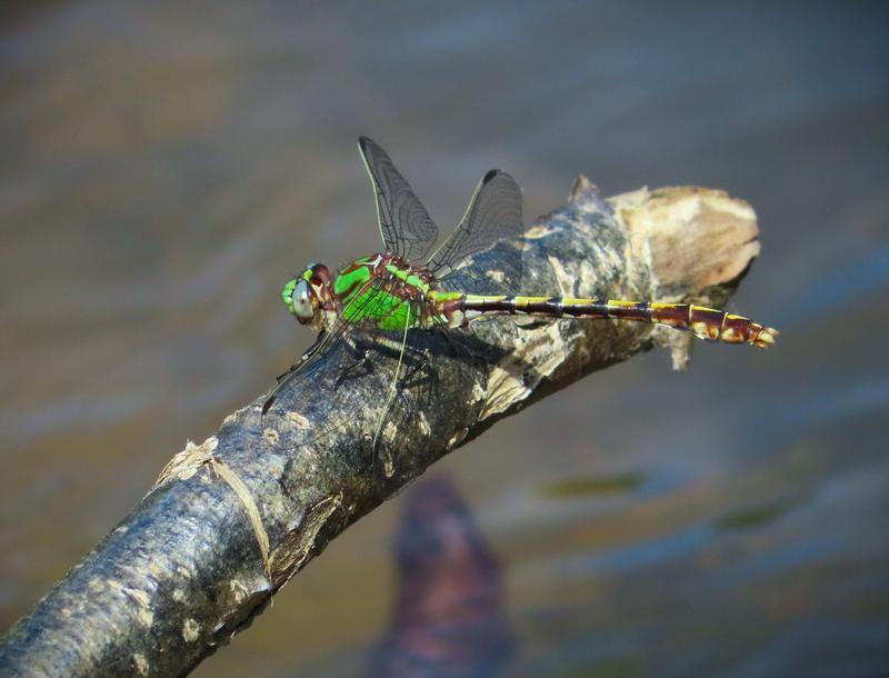
[[[709,341],[750,343],[759,348],[768,348],[778,337],[778,330],[763,327],[749,318],[691,303],[467,295],[460,306],[466,320],[487,313],[521,313],[547,318],[612,318],[657,322],[680,330],[691,330],[697,337]]]

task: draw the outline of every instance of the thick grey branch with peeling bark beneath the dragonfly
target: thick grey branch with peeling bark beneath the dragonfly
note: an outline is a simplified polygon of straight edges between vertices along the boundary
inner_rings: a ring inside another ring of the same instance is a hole
[[[750,206],[722,191],[643,189],[606,201],[580,177],[568,206],[528,228],[522,291],[720,307],[759,252],[757,235]],[[668,347],[681,369],[692,338],[633,322],[503,318],[480,323],[473,341],[482,360],[428,359],[439,405],[387,426],[388,478],[371,472],[368,431],[386,400],[374,375],[337,383],[336,398],[326,398],[337,375],[322,369],[276,403],[286,417],[261,420],[259,398],[202,445],[189,442],[132,514],[11,629],[0,674],[187,674],[331,539],[450,450],[655,346]],[[300,445],[320,429],[328,432]]]

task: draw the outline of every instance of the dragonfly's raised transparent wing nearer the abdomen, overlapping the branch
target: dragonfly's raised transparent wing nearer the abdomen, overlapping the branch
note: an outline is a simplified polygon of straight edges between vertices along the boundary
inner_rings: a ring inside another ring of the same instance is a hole
[[[521,282],[521,189],[508,173],[491,170],[427,268],[443,290],[515,292]]]

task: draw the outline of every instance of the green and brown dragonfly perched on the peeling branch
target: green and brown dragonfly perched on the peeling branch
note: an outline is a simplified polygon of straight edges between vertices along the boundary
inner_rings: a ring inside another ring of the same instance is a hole
[[[358,148],[373,189],[383,247],[336,271],[309,263],[287,280],[281,298],[288,311],[318,337],[301,360],[279,377],[263,402],[263,420],[278,411],[277,402],[288,400],[290,389],[318,375],[332,356],[338,356],[339,369],[349,371],[372,360],[372,351],[362,355],[357,346],[386,347],[396,360],[394,369],[387,372],[387,399],[373,431],[376,459],[386,418],[416,366],[428,359],[418,348],[418,335],[439,332],[450,341],[455,330],[492,316],[630,320],[691,331],[722,343],[758,348],[775,343],[778,331],[773,328],[692,303],[518,296],[522,193],[509,173],[487,172],[453,232],[432,249],[438,227],[408,181],[376,142],[361,137]],[[486,259],[486,252],[493,250],[497,256]],[[489,268],[491,261],[496,270]],[[349,350],[343,352],[343,346]],[[350,353],[352,362],[342,357]],[[387,467],[387,476],[390,470]]]

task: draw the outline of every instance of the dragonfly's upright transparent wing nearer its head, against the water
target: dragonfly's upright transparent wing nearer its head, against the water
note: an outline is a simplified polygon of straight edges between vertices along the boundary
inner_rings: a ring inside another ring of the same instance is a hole
[[[377,220],[386,249],[408,261],[424,258],[438,240],[438,227],[384,150],[367,137],[358,140],[358,150],[377,197]]]

